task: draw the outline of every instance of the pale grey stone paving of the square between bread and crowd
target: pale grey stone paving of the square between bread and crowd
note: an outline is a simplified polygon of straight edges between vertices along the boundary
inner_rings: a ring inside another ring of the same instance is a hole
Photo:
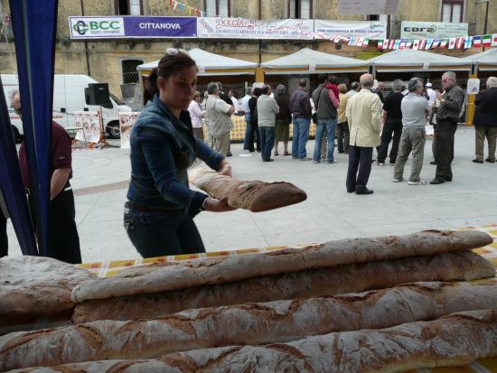
[[[239,179],[286,181],[307,192],[304,202],[279,210],[252,213],[202,212],[196,219],[208,251],[313,243],[338,238],[403,234],[427,228],[461,228],[497,223],[497,164],[476,164],[474,129],[460,126],[455,138],[454,181],[442,185],[409,186],[392,182],[393,167],[374,166],[369,186],[374,194],[358,196],[345,190],[348,158],[337,163],[301,162],[275,156],[262,163],[232,145],[229,158]],[[307,145],[308,155],[314,141]],[[486,149],[485,149],[486,152]],[[335,149],[336,154],[336,149]],[[486,153],[485,153],[486,156]],[[421,177],[435,175],[430,165],[431,142],[425,148]],[[139,257],[122,224],[130,174],[129,150],[104,148],[73,152],[76,214],[85,262]],[[406,165],[405,176],[410,171]],[[21,255],[9,223],[11,255]]]

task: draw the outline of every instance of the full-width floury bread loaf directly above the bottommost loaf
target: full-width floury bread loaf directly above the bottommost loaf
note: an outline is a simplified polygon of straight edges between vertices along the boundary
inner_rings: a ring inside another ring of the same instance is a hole
[[[362,294],[195,309],[149,321],[88,322],[0,337],[0,371],[286,342],[482,309],[497,310],[497,284],[403,284]]]

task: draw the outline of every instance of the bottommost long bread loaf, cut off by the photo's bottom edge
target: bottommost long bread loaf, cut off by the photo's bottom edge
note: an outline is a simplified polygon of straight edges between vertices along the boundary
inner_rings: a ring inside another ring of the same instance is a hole
[[[393,373],[461,366],[497,356],[497,310],[457,312],[432,322],[343,331],[287,343],[190,350],[154,360],[99,361],[29,372]]]

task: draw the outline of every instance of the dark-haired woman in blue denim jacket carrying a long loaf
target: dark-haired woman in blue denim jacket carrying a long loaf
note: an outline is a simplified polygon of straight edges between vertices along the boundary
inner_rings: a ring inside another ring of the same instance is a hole
[[[205,252],[193,217],[201,210],[234,210],[226,199],[214,200],[189,188],[187,169],[197,157],[231,175],[224,157],[192,134],[188,106],[196,83],[197,65],[188,52],[166,50],[156,71],[158,93],[131,130],[124,225],[144,257]]]

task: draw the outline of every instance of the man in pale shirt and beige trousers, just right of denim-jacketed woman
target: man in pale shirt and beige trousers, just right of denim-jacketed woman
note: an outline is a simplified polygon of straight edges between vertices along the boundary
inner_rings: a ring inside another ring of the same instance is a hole
[[[230,153],[230,131],[233,129],[231,115],[235,108],[220,98],[220,89],[217,83],[207,86],[209,98],[206,104],[206,116],[209,119],[209,133],[214,138],[215,150],[222,155]]]

